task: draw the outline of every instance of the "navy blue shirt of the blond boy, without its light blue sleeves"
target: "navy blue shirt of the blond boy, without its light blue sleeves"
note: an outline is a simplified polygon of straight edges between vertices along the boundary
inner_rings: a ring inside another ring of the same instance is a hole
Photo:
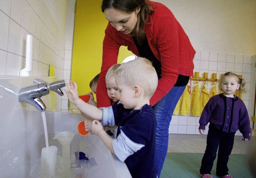
[[[125,109],[122,104],[112,106],[117,137],[122,131],[130,140],[145,145],[124,161],[133,178],[156,178],[154,152],[156,138],[156,117],[150,105],[141,110]]]

